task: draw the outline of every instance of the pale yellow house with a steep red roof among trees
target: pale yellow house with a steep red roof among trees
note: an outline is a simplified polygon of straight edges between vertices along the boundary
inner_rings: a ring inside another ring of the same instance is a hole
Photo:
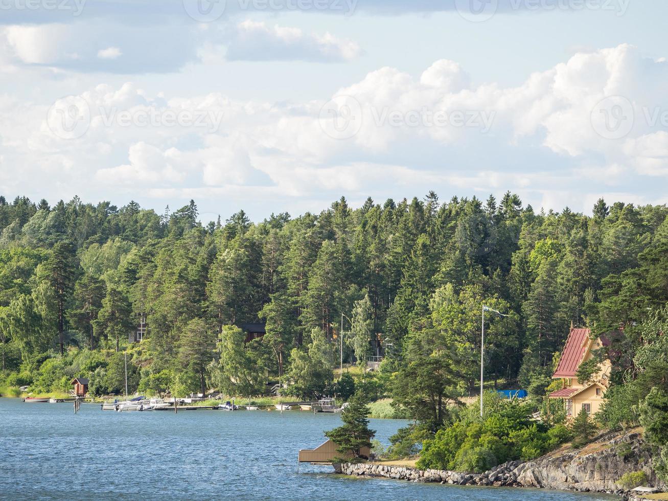
[[[570,328],[559,364],[552,374],[552,379],[562,380],[562,389],[549,395],[550,398],[559,398],[564,401],[566,419],[574,418],[582,409],[589,414],[599,411],[603,403],[603,394],[610,384],[612,367],[610,361],[605,359],[591,382],[584,385],[578,383],[576,373],[582,362],[593,357],[593,351],[609,345],[610,341],[605,337],[592,339],[590,329]]]

